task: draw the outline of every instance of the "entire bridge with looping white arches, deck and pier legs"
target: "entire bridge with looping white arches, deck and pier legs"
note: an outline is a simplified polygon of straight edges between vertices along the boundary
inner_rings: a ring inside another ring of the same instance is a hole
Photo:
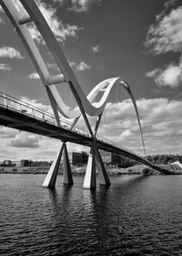
[[[90,154],[86,167],[86,176],[84,181],[85,189],[96,189],[96,167],[98,169],[100,184],[110,186],[110,181],[106,173],[104,163],[102,161],[99,149],[109,152],[114,152],[126,156],[153,168],[158,169],[148,162],[145,158],[136,153],[117,146],[114,143],[107,141],[97,135],[97,129],[103,112],[108,102],[108,97],[116,86],[123,87],[128,93],[133,102],[136,111],[138,127],[140,129],[141,139],[145,152],[144,138],[140,124],[139,113],[136,107],[136,100],[133,96],[128,84],[122,80],[122,77],[112,77],[100,82],[86,96],[82,87],[80,87],[72,68],[69,66],[66,56],[57,43],[51,28],[47,25],[44,16],[40,12],[34,0],[19,0],[19,8],[16,8],[17,3],[12,0],[0,0],[0,4],[5,10],[10,22],[15,27],[17,35],[22,40],[28,55],[31,57],[39,77],[45,86],[46,93],[53,108],[54,115],[45,113],[33,106],[26,106],[24,102],[5,95],[0,94],[0,124],[9,128],[17,128],[36,134],[44,135],[50,138],[60,139],[63,144],[57,152],[48,174],[45,177],[43,186],[46,188],[54,188],[58,167],[62,154],[64,154],[64,183],[67,185],[73,184],[72,173],[67,155],[66,142],[73,142],[80,145],[85,145],[90,148]],[[18,10],[19,9],[19,10]],[[37,31],[45,41],[45,45],[50,51],[50,54],[55,59],[57,67],[59,67],[59,75],[51,75],[46,67],[45,61],[38,47],[35,44],[34,38],[31,36],[28,26],[34,24]],[[64,99],[59,94],[56,85],[65,83],[71,89],[73,96],[76,99],[78,108],[70,108],[66,105]],[[100,100],[93,104],[98,94],[102,94]],[[60,115],[65,118],[74,118],[73,123],[66,122],[61,119]],[[86,128],[79,128],[76,123],[80,117],[83,117],[86,123]],[[88,117],[97,117],[94,130],[91,128]],[[163,170],[163,172],[167,172]]]

